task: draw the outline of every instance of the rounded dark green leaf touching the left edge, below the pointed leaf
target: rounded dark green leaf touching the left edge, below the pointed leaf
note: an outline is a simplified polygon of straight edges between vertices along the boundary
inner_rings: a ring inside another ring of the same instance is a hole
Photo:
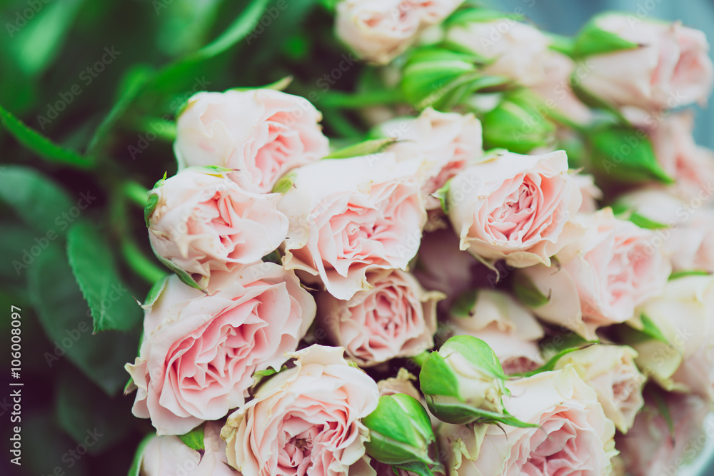
[[[25,166],[6,166],[0,170],[0,201],[14,208],[18,218],[48,238],[53,235],[51,232],[64,235],[67,222],[62,214],[69,213],[74,206],[66,191],[54,181]]]

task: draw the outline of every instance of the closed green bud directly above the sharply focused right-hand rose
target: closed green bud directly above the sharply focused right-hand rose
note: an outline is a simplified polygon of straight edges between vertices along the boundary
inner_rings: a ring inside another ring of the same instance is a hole
[[[546,118],[545,104],[533,93],[519,89],[506,94],[501,103],[483,116],[483,145],[528,153],[555,141],[555,125]]]

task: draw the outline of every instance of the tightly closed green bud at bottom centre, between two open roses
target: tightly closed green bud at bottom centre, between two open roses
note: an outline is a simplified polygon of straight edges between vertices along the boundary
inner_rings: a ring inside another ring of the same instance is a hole
[[[379,397],[376,410],[362,422],[369,429],[367,454],[375,460],[405,470],[410,465],[425,470],[441,465],[429,455],[436,437],[429,415],[416,398],[406,393]]]

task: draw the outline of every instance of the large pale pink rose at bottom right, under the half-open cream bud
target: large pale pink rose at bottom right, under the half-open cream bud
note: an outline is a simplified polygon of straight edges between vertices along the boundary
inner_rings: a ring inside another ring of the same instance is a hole
[[[617,453],[615,425],[573,368],[509,380],[506,386],[508,412],[540,427],[442,425],[438,433],[448,474],[610,474],[610,458]]]

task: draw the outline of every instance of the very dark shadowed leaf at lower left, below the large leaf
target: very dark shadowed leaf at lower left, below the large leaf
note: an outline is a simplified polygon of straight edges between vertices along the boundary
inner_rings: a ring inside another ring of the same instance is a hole
[[[79,370],[61,373],[55,395],[57,421],[77,443],[84,442],[88,431],[101,434],[87,445],[90,453],[101,453],[129,433],[132,422],[124,414],[129,402],[121,395],[108,397]]]

